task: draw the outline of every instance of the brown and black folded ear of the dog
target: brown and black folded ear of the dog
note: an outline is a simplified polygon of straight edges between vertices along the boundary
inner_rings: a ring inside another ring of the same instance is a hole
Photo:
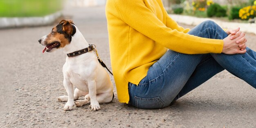
[[[74,24],[72,20],[61,20],[59,24],[63,24],[62,31],[66,31],[71,36],[76,33],[76,28],[72,25]]]

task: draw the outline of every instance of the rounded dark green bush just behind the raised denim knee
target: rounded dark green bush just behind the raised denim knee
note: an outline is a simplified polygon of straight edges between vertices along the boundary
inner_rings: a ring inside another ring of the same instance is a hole
[[[227,16],[227,9],[220,6],[220,4],[214,3],[209,6],[207,9],[207,16],[208,17],[224,17]]]

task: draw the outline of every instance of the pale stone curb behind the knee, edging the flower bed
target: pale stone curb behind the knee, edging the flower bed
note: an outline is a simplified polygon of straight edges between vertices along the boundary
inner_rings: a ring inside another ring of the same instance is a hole
[[[176,22],[182,23],[185,25],[196,26],[205,20],[212,20],[212,21],[216,22],[218,25],[220,25],[222,28],[236,29],[236,28],[240,27],[240,30],[243,32],[256,34],[256,23],[223,22],[223,21],[215,20],[215,19],[211,19],[211,18],[197,18],[197,17],[193,17],[193,16],[183,16],[183,15],[175,15],[175,14],[169,14],[169,16]]]

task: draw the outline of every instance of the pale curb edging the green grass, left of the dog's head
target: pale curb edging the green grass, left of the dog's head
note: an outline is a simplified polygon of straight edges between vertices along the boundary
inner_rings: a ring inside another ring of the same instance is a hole
[[[23,17],[23,18],[0,18],[0,29],[12,27],[34,27],[52,24],[57,18],[62,16],[60,11],[43,17]]]

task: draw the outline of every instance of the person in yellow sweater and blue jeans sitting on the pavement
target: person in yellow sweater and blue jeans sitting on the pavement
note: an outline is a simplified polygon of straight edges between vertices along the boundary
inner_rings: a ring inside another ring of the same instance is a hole
[[[107,0],[106,17],[121,103],[164,108],[225,69],[256,88],[256,52],[239,28],[184,29],[162,0]]]

